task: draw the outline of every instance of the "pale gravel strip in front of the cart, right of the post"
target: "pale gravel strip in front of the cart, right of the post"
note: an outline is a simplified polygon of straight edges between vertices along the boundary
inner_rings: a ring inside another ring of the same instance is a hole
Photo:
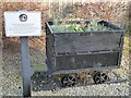
[[[63,88],[57,91],[33,91],[33,96],[128,96],[127,83],[90,85],[72,88]]]

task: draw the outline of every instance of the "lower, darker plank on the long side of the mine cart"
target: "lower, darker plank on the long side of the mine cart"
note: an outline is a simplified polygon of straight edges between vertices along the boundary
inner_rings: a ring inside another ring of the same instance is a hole
[[[56,71],[118,66],[119,52],[56,57]]]

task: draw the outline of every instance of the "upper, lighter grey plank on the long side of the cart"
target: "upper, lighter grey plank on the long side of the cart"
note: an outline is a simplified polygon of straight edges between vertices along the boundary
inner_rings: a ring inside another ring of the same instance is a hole
[[[119,51],[122,33],[83,33],[56,35],[56,53]]]

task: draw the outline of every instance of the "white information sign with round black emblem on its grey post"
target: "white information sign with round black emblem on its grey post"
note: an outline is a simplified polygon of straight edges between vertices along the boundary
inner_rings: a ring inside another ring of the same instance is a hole
[[[7,37],[21,38],[23,96],[31,97],[31,63],[28,36],[40,36],[41,13],[34,11],[4,12]]]

